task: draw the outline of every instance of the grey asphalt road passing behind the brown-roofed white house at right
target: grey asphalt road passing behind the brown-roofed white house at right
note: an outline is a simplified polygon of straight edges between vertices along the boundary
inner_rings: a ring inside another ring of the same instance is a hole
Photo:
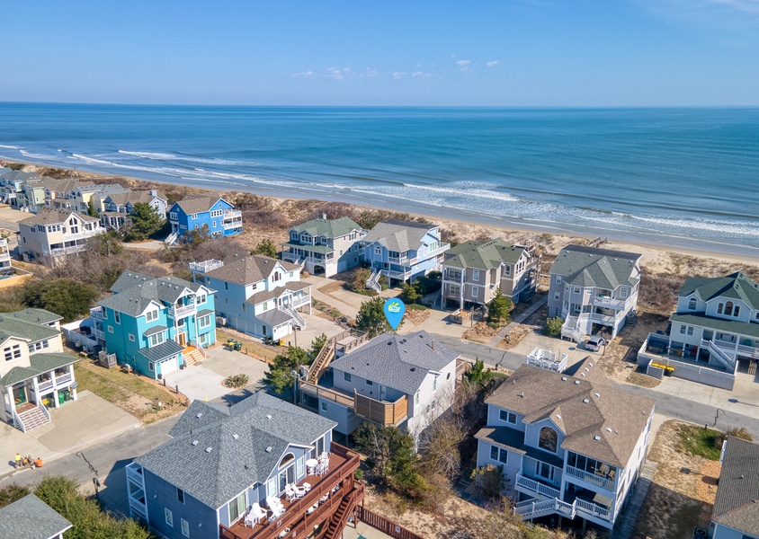
[[[509,370],[516,370],[524,363],[524,357],[519,354],[513,354],[508,350],[497,349],[472,342],[470,340],[460,340],[455,337],[436,334],[436,340],[442,342],[443,346],[448,349],[459,352],[465,358],[481,359],[487,365],[499,366]],[[676,397],[667,393],[653,391],[646,387],[632,384],[620,384],[612,381],[612,385],[621,391],[637,393],[638,395],[654,399],[656,401],[656,413],[677,419],[690,421],[697,425],[708,423],[711,427],[715,423],[717,414],[717,428],[725,430],[730,427],[745,427],[755,439],[759,439],[759,418],[741,415],[734,411],[718,409],[715,406],[694,402],[682,397]]]

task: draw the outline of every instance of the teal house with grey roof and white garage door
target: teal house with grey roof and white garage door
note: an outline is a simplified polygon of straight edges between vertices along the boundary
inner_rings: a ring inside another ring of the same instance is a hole
[[[125,271],[90,313],[94,333],[119,363],[160,380],[205,357],[216,342],[214,290],[181,278]]]

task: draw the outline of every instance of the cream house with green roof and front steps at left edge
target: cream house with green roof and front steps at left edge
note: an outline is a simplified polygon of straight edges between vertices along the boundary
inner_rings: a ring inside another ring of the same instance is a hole
[[[49,406],[76,401],[77,358],[63,350],[60,320],[44,309],[0,313],[4,420],[23,432],[49,423]]]

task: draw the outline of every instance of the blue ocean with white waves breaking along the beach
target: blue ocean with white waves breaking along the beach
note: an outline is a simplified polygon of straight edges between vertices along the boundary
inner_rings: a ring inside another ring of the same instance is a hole
[[[759,109],[0,103],[0,156],[759,256]]]

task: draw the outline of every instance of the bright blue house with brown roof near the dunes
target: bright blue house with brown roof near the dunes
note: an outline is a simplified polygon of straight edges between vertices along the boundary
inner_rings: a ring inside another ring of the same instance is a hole
[[[211,237],[242,234],[243,214],[225,199],[190,196],[169,208],[171,239],[181,238],[190,230],[205,230]],[[169,242],[172,243],[172,242]]]

